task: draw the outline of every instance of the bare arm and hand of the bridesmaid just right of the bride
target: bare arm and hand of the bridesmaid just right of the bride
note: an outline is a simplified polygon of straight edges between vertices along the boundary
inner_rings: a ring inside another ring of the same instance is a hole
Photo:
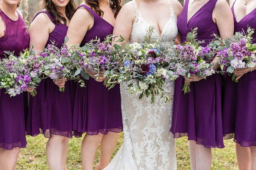
[[[218,26],[220,37],[222,40],[226,39],[227,37],[231,37],[234,34],[233,14],[226,0],[217,1],[212,13],[212,17],[213,21]],[[215,57],[215,59],[213,59],[212,64],[212,68],[214,70],[219,68],[220,65],[218,64],[218,57]],[[191,82],[192,80],[195,82],[200,81],[202,78],[192,74],[189,78],[185,77],[185,79],[189,82]]]

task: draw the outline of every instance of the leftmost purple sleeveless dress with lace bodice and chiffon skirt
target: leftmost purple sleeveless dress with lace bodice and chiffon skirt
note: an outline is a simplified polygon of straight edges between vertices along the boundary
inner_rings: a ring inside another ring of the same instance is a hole
[[[18,13],[18,12],[17,12]],[[0,59],[5,58],[4,51],[20,51],[29,47],[29,34],[20,14],[18,20],[11,20],[3,11],[0,18],[6,26],[5,34],[0,37]],[[7,57],[7,56],[6,56]],[[26,147],[25,112],[26,93],[10,97],[0,89],[0,148],[12,150],[14,147]]]

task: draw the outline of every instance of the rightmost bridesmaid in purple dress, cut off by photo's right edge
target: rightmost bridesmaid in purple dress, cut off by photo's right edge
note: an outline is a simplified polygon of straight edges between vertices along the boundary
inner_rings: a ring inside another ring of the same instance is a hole
[[[235,32],[256,29],[255,0],[230,0]],[[256,43],[256,33],[253,34]],[[234,137],[239,170],[256,169],[256,66],[236,70],[239,83],[227,76],[224,88],[223,130],[224,139]]]

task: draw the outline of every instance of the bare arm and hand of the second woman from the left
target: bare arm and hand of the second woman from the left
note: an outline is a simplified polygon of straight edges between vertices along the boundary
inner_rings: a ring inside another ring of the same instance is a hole
[[[54,29],[54,27],[55,26],[49,17],[43,13],[38,14],[35,20],[31,23],[31,26],[29,27],[29,47],[31,48],[33,46],[33,50],[36,54],[38,54],[38,51],[44,50],[49,38],[49,33]],[[62,88],[66,81],[67,79],[58,79],[54,82],[58,87]],[[33,91],[33,88],[28,88],[27,91]]]

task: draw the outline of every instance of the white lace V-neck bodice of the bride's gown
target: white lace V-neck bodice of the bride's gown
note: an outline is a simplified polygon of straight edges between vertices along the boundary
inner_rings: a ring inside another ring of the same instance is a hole
[[[170,10],[170,17],[166,25],[163,27],[162,34],[159,35],[157,33],[157,29],[154,28],[154,32],[151,35],[152,43],[156,42],[157,40],[163,41],[163,42],[171,42],[174,41],[177,37],[178,29],[177,29],[177,17],[175,15],[175,12],[173,10],[172,1],[167,0]],[[133,1],[134,3],[134,12],[135,12],[135,20],[132,26],[131,31],[131,37],[129,41],[131,43],[133,42],[142,42],[143,38],[146,35],[146,32],[148,31],[148,28],[151,26],[146,22],[146,20],[143,18],[142,14],[140,13],[139,6],[136,1]]]

